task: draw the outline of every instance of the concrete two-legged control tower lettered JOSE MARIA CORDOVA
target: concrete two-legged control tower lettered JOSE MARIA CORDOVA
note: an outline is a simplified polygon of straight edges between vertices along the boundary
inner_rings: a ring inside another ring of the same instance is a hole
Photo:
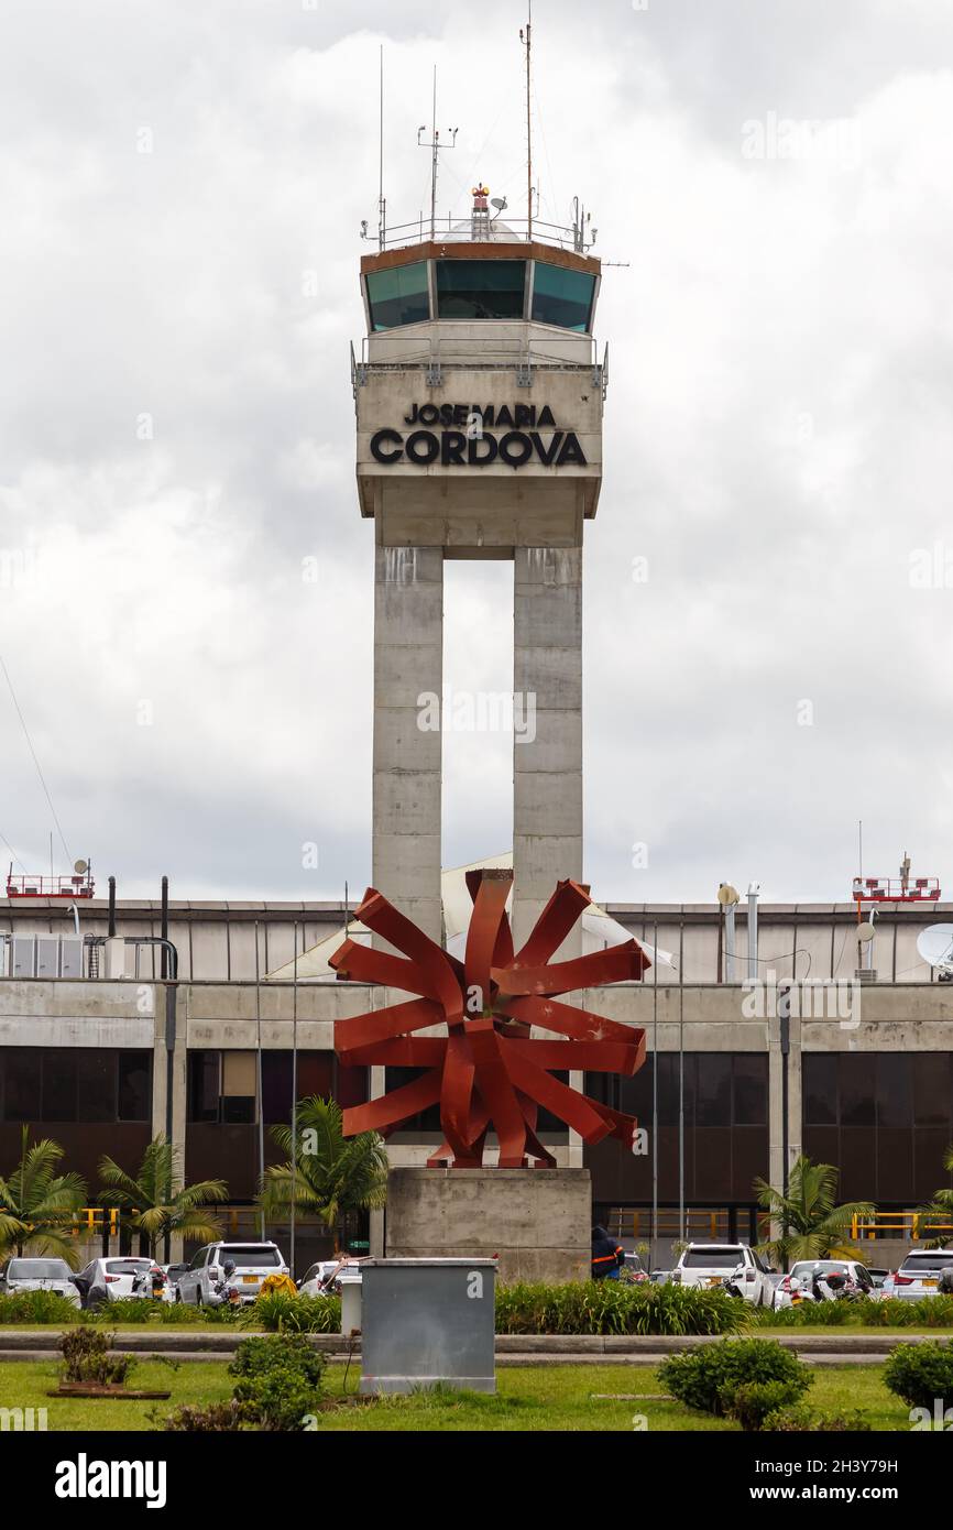
[[[603,462],[600,262],[584,223],[517,233],[488,188],[467,222],[411,225],[361,260],[352,358],[361,514],[375,522],[373,884],[441,939],[444,560],[514,560],[514,933],[583,878],[583,526]],[[479,638],[477,638],[479,641]],[[479,747],[479,741],[477,741]],[[571,955],[572,947],[564,953]]]

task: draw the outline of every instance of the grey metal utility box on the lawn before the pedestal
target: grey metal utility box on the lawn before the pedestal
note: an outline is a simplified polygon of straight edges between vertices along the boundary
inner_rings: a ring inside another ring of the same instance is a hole
[[[367,1259],[361,1392],[496,1392],[496,1259]]]

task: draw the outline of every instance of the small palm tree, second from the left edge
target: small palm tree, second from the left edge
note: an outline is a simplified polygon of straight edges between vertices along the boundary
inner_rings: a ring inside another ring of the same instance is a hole
[[[222,1236],[222,1226],[205,1206],[228,1196],[225,1180],[199,1180],[184,1184],[181,1154],[159,1134],[153,1137],[133,1178],[109,1157],[99,1160],[101,1206],[116,1206],[122,1222],[139,1235],[139,1252],[156,1258],[161,1238],[179,1233],[211,1242]]]

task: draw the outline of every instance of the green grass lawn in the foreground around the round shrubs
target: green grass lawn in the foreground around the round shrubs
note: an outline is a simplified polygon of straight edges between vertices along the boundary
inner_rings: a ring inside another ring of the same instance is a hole
[[[352,1366],[347,1391],[356,1388]],[[124,1403],[112,1398],[73,1400],[47,1397],[57,1385],[55,1362],[8,1362],[0,1365],[0,1405],[5,1408],[46,1408],[50,1431],[70,1429],[153,1429],[153,1412],[164,1415],[177,1403],[220,1401],[231,1394],[225,1363],[184,1363],[177,1369],[158,1360],[144,1360],[130,1375],[132,1386],[168,1388],[168,1403]],[[340,1395],[344,1366],[327,1369],[327,1389]],[[385,1398],[367,1406],[320,1415],[320,1431],[623,1431],[632,1432],[633,1414],[644,1414],[649,1431],[733,1431],[737,1426],[707,1414],[690,1414],[679,1403],[652,1400],[600,1398],[606,1392],[662,1391],[655,1368],[649,1366],[542,1366],[502,1368],[499,1394],[427,1395]],[[831,1366],[814,1372],[808,1401],[823,1412],[851,1412],[860,1408],[873,1429],[907,1431],[907,1408],[881,1382],[881,1368]]]

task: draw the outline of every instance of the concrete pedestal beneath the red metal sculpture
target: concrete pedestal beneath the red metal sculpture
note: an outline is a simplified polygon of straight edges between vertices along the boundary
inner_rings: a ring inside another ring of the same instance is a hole
[[[392,1169],[387,1258],[488,1258],[499,1279],[586,1281],[587,1169]]]

